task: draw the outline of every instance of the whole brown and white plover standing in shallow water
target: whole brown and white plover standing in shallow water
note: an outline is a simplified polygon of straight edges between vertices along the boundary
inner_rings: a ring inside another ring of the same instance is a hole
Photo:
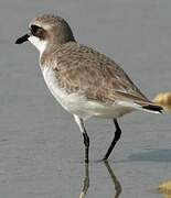
[[[74,116],[83,133],[86,163],[89,138],[85,120],[92,117],[114,120],[116,132],[104,156],[107,160],[120,139],[118,118],[133,110],[162,112],[162,107],[149,101],[113,59],[77,43],[63,18],[39,15],[29,29],[15,43],[30,41],[40,51],[40,67],[50,91]]]

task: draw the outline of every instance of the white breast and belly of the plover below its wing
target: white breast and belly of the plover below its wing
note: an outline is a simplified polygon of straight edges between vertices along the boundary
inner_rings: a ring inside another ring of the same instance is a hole
[[[88,100],[82,92],[67,94],[65,89],[58,87],[55,73],[51,68],[44,68],[42,73],[54,98],[65,110],[72,114],[77,114],[79,118],[118,118],[132,110],[132,108],[122,107],[117,103],[109,106],[98,101]]]

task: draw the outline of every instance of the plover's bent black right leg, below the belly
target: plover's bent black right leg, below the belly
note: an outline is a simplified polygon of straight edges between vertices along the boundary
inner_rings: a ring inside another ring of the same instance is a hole
[[[109,157],[111,151],[114,150],[116,143],[118,142],[118,140],[120,139],[120,135],[121,135],[121,130],[120,130],[119,124],[118,124],[116,119],[114,119],[114,123],[115,123],[115,127],[116,127],[115,136],[114,136],[114,140],[113,140],[110,146],[107,150],[107,153],[106,153],[106,155],[104,157],[104,161]]]

